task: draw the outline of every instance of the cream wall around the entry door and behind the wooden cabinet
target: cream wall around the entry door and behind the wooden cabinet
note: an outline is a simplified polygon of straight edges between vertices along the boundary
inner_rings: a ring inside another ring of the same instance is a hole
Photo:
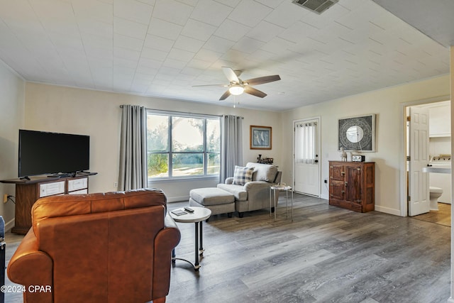
[[[375,210],[400,215],[400,167],[404,158],[402,103],[450,94],[449,75],[397,87],[303,106],[282,113],[282,170],[284,182],[292,182],[293,121],[321,116],[321,194],[328,199],[328,160],[340,160],[338,119],[376,114],[376,152],[363,153],[375,162]]]

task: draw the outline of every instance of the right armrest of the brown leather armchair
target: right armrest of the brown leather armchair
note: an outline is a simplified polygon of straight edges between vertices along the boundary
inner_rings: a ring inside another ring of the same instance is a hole
[[[181,234],[174,219],[166,214],[164,228],[155,238],[155,260],[153,260],[153,299],[165,298],[170,287],[172,250],[178,245]]]

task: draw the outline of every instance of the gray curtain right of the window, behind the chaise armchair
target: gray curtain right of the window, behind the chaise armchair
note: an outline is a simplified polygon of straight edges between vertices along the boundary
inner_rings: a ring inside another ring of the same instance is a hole
[[[233,177],[235,165],[243,166],[243,117],[223,116],[221,119],[221,176],[223,183]]]

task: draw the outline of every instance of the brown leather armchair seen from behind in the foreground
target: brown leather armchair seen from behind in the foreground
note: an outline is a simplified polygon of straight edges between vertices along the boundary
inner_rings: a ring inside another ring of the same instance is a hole
[[[180,239],[160,189],[41,198],[8,265],[24,302],[165,302]]]

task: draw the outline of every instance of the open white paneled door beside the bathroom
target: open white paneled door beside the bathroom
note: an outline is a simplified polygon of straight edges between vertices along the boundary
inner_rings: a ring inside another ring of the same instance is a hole
[[[428,164],[428,109],[409,108],[409,216],[430,210],[428,173],[422,168]]]

